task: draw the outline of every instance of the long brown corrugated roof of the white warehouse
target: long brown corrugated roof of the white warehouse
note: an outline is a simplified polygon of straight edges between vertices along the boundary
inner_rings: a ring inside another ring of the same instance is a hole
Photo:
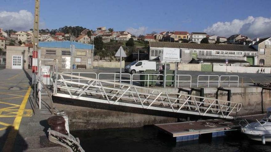
[[[173,43],[173,42],[149,42],[150,47],[156,48],[184,48],[184,49],[205,49],[225,51],[256,51],[248,45],[219,45],[219,44],[196,44],[196,43]]]

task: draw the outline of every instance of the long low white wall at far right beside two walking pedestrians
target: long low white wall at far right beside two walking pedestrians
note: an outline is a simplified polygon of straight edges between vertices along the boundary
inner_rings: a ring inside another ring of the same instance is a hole
[[[270,73],[271,68],[270,67],[237,67],[237,66],[228,66],[227,71],[228,72],[237,72],[237,73],[257,73],[261,71],[261,68],[265,69],[265,73]],[[226,72],[226,66],[219,66],[214,65],[213,66],[214,72]]]

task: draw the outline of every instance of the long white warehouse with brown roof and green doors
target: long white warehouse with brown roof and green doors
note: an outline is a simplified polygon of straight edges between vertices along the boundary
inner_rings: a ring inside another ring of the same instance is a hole
[[[224,65],[228,59],[230,66],[258,65],[258,51],[248,45],[149,42],[149,60],[163,57],[164,47],[180,49],[181,63],[196,60],[201,63]]]

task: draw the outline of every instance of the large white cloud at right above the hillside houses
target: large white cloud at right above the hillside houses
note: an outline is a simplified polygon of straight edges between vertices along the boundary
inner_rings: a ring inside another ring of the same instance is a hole
[[[230,36],[243,34],[251,38],[271,36],[271,18],[249,16],[244,20],[234,19],[231,22],[217,22],[204,29],[209,35]]]

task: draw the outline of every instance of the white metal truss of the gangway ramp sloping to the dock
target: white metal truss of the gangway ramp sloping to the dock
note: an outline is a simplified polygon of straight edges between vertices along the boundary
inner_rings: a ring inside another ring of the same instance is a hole
[[[53,95],[59,97],[227,119],[233,119],[241,109],[241,103],[230,101],[162,92],[65,73],[53,72],[53,75],[57,79]],[[73,81],[78,79],[80,82]],[[114,85],[120,87],[114,88]]]

